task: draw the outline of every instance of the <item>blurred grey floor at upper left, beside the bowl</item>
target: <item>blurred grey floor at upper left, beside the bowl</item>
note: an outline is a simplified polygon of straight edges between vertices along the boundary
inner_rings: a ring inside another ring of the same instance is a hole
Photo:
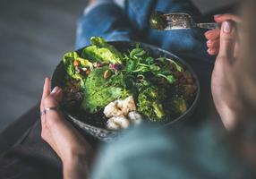
[[[1,0],[0,131],[40,99],[44,78],[74,49],[87,0]]]

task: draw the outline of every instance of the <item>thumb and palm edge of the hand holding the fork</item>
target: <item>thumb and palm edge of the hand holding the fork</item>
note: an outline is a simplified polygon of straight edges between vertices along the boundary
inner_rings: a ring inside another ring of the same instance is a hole
[[[220,30],[219,52],[211,78],[211,92],[215,106],[226,129],[235,128],[241,101],[235,83],[236,30],[231,21],[224,21]]]

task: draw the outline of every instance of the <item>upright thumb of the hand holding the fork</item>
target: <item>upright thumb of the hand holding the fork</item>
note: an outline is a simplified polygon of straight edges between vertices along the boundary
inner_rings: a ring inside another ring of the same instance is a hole
[[[234,23],[232,21],[224,21],[221,25],[218,55],[225,56],[228,59],[234,58],[235,38]]]

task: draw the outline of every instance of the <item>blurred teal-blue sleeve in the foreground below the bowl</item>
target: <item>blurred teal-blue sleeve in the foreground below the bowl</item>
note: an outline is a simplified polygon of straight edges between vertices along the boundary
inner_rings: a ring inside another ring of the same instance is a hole
[[[212,125],[175,132],[139,128],[102,150],[91,178],[232,178],[230,171],[242,174],[243,160],[228,142],[225,133]]]

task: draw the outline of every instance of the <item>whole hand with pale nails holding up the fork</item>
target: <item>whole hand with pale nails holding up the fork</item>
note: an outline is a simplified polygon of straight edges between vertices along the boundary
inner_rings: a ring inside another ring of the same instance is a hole
[[[222,22],[220,30],[210,30],[206,33],[209,54],[216,55],[211,79],[211,92],[215,106],[226,129],[232,130],[240,119],[245,117],[243,98],[237,82],[236,55],[239,51],[239,40],[235,21],[240,19],[231,14],[215,16]]]

